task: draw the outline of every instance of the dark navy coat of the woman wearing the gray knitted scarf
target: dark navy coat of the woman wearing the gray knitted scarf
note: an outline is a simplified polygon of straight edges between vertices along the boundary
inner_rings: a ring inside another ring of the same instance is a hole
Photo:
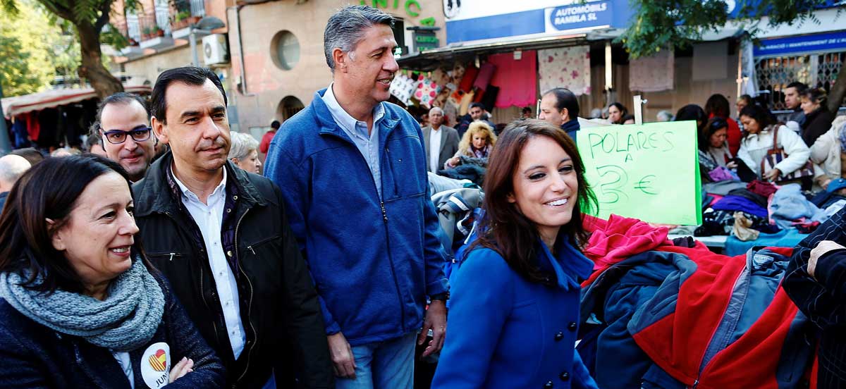
[[[129,352],[135,389],[148,387],[141,365],[147,348],[165,342],[170,347],[168,364],[183,357],[194,359],[194,371],[173,381],[168,388],[215,388],[224,383],[223,364],[209,348],[168,282],[154,275],[162,285],[165,309],[162,323],[150,342]],[[32,321],[0,299],[0,387],[3,388],[129,388],[129,379],[118,360],[107,349],[53,331]],[[163,373],[162,373],[163,374]]]

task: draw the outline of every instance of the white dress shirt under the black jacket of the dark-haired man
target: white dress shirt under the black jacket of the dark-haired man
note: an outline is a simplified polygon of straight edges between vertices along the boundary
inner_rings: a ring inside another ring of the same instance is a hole
[[[173,173],[173,170],[171,170]],[[241,321],[241,307],[238,304],[238,283],[235,282],[235,275],[223,253],[221,242],[221,229],[223,226],[223,208],[226,206],[226,168],[223,168],[223,179],[214,192],[211,192],[207,199],[208,204],[203,204],[194,192],[191,192],[176,174],[173,179],[182,189],[182,204],[194,218],[197,227],[206,242],[206,251],[211,266],[211,276],[217,287],[217,295],[220,297],[220,304],[223,310],[223,319],[226,321],[226,331],[229,336],[229,343],[232,345],[232,353],[238,359],[244,351],[246,333],[244,323]]]

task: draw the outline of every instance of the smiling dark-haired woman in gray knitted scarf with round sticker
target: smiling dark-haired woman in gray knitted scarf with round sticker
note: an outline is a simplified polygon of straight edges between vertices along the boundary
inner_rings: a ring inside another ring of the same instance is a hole
[[[0,387],[220,387],[220,359],[135,234],[129,176],[48,158],[0,216]]]

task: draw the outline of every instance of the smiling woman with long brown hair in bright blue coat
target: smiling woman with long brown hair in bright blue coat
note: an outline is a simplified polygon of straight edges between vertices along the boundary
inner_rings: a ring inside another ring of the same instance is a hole
[[[574,349],[579,281],[593,269],[577,249],[580,210],[596,204],[584,173],[573,140],[546,122],[500,135],[433,388],[596,387]]]

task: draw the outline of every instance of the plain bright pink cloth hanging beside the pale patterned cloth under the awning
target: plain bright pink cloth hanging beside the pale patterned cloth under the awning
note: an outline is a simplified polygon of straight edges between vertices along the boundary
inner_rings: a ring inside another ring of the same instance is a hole
[[[514,53],[494,54],[487,58],[497,67],[491,85],[499,87],[494,107],[535,107],[537,101],[537,52],[525,51],[515,60]]]

